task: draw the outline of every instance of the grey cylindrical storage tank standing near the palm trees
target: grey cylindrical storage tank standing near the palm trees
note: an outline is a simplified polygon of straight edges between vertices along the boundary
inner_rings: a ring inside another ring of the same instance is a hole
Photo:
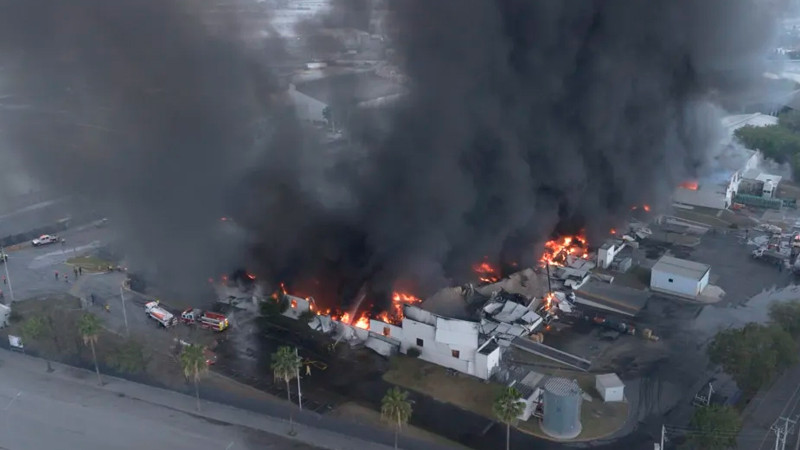
[[[542,431],[556,439],[581,434],[581,388],[566,378],[550,378],[544,384]]]

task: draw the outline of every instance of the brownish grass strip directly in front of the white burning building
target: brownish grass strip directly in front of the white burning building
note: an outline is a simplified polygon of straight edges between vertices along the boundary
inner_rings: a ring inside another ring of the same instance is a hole
[[[494,419],[492,403],[502,389],[469,375],[448,375],[444,367],[407,356],[395,356],[383,379],[414,391],[430,395],[463,409]]]

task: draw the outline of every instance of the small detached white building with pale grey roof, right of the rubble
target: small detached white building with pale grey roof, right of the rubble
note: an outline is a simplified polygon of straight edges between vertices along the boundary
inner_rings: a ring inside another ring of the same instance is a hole
[[[695,300],[708,286],[711,266],[662,256],[650,271],[650,290]]]

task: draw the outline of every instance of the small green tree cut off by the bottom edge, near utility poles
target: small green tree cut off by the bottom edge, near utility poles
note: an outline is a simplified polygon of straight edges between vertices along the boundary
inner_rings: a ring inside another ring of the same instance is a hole
[[[736,447],[742,420],[729,406],[702,406],[694,410],[689,423],[688,442],[701,450],[725,450]]]

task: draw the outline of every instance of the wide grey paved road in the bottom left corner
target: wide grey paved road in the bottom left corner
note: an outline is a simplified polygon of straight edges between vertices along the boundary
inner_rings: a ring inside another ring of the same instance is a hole
[[[111,378],[101,388],[90,372],[57,364],[48,374],[40,360],[6,351],[0,361],[3,449],[323,448],[289,440],[280,435],[287,424],[249,411],[204,402],[203,412],[195,414],[194,400],[184,395]],[[336,443],[325,448],[382,448],[299,431],[306,441]]]

